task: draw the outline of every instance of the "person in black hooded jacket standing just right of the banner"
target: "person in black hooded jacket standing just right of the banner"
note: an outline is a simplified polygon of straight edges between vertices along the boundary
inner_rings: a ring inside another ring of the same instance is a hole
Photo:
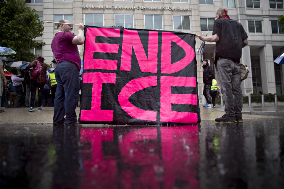
[[[206,108],[211,108],[211,96],[210,96],[210,89],[212,85],[212,79],[214,78],[214,72],[211,68],[211,66],[208,64],[208,61],[204,59],[202,61],[202,68],[203,68],[203,83],[204,83],[204,88],[203,88],[203,95],[205,96],[207,104],[203,107]]]

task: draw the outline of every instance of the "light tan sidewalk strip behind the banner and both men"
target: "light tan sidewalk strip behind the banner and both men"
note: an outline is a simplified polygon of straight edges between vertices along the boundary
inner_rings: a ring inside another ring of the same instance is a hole
[[[53,107],[43,107],[43,111],[35,108],[34,112],[28,112],[29,108],[3,108],[5,111],[0,113],[1,124],[22,124],[22,123],[52,123]],[[80,108],[76,108],[77,118]],[[243,119],[272,118],[275,116],[284,117],[284,106],[266,107],[243,107]],[[204,108],[200,106],[201,121],[214,120],[224,115],[224,107]]]

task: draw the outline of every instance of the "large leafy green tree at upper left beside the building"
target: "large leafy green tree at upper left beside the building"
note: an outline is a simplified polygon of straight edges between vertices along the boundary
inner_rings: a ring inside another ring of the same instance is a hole
[[[44,29],[35,9],[25,7],[22,0],[0,0],[0,46],[12,48],[17,54],[9,55],[15,61],[33,61],[31,49],[42,49],[44,42],[34,39],[42,36]]]

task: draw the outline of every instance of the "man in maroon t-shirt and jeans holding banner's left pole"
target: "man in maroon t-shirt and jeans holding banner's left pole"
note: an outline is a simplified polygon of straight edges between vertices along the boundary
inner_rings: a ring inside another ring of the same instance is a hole
[[[77,45],[84,44],[84,25],[78,25],[78,35],[71,33],[72,25],[68,20],[60,20],[57,25],[51,49],[57,61],[55,78],[57,88],[54,99],[53,125],[74,125],[77,123],[75,112],[79,97],[79,71],[81,59]],[[66,115],[66,118],[64,116]]]

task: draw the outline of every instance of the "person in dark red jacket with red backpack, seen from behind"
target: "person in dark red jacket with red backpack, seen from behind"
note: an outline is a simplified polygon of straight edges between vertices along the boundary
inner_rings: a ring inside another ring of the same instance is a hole
[[[43,94],[43,87],[47,83],[46,81],[46,65],[43,63],[43,57],[42,56],[37,56],[34,61],[31,61],[30,64],[26,67],[26,70],[30,69],[31,67],[35,67],[37,64],[37,60],[41,64],[42,71],[41,71],[41,76],[40,79],[35,78],[31,75],[30,77],[30,109],[28,112],[33,112],[35,111],[34,106],[35,106],[35,94],[36,94],[36,89],[38,89],[38,111],[41,111],[41,105],[42,105],[42,94]]]

